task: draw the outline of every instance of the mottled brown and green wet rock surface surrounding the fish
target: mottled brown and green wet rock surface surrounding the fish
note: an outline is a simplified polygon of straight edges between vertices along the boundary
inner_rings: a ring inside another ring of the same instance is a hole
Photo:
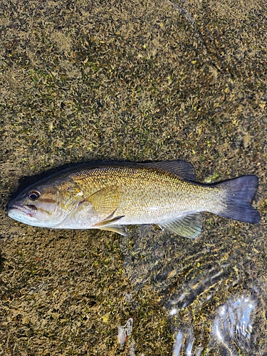
[[[0,355],[264,355],[266,17],[263,1],[2,1]],[[99,159],[257,174],[261,223],[121,239],[6,215],[46,172]]]

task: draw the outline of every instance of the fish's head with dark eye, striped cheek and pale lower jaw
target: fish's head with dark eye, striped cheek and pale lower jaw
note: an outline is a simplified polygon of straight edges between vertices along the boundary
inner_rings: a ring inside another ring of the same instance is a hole
[[[23,224],[56,228],[73,208],[70,195],[58,182],[36,184],[9,202],[8,215]]]

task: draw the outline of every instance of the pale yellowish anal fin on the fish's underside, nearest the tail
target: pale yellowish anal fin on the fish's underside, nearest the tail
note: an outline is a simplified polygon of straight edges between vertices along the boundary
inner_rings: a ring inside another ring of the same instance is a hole
[[[182,215],[176,219],[159,224],[159,226],[180,236],[195,239],[201,233],[202,216],[199,213]]]

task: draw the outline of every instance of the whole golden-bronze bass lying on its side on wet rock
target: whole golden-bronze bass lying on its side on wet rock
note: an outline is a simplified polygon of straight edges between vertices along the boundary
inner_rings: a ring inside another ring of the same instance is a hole
[[[201,212],[246,223],[261,220],[251,205],[258,177],[195,182],[183,160],[82,164],[25,189],[8,205],[12,219],[52,229],[100,229],[127,236],[127,226],[154,224],[179,236],[201,233]]]

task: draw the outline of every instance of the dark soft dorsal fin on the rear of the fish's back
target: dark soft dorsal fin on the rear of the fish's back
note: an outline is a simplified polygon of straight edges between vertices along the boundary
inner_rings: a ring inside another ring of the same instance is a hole
[[[171,172],[172,174],[175,174],[179,178],[184,180],[194,181],[195,179],[194,166],[186,161],[162,161],[146,164],[150,167],[164,169],[165,171]]]

